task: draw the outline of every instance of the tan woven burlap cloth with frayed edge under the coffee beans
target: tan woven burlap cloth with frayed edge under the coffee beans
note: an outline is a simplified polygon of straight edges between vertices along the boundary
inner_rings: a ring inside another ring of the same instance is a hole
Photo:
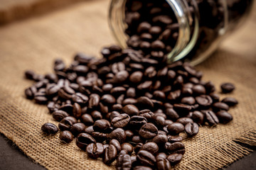
[[[74,141],[65,145],[58,139],[59,134],[43,135],[43,123],[58,123],[46,106],[27,100],[23,94],[32,84],[23,78],[26,69],[40,74],[53,72],[57,57],[70,64],[75,52],[100,56],[102,46],[114,43],[107,26],[109,2],[85,1],[0,28],[0,132],[47,169],[114,169],[114,165],[88,159]],[[217,87],[224,81],[235,84],[233,94],[225,95],[235,96],[240,102],[230,109],[234,120],[216,128],[200,128],[193,138],[183,135],[186,154],[175,169],[219,169],[256,146],[255,18],[254,12],[239,33],[197,67],[204,72],[203,79]]]

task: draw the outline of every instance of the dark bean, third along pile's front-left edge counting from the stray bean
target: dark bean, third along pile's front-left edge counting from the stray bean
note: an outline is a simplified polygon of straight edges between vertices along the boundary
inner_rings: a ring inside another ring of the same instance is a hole
[[[96,140],[87,133],[80,133],[76,138],[76,145],[82,150],[85,150],[90,143],[96,143]]]

